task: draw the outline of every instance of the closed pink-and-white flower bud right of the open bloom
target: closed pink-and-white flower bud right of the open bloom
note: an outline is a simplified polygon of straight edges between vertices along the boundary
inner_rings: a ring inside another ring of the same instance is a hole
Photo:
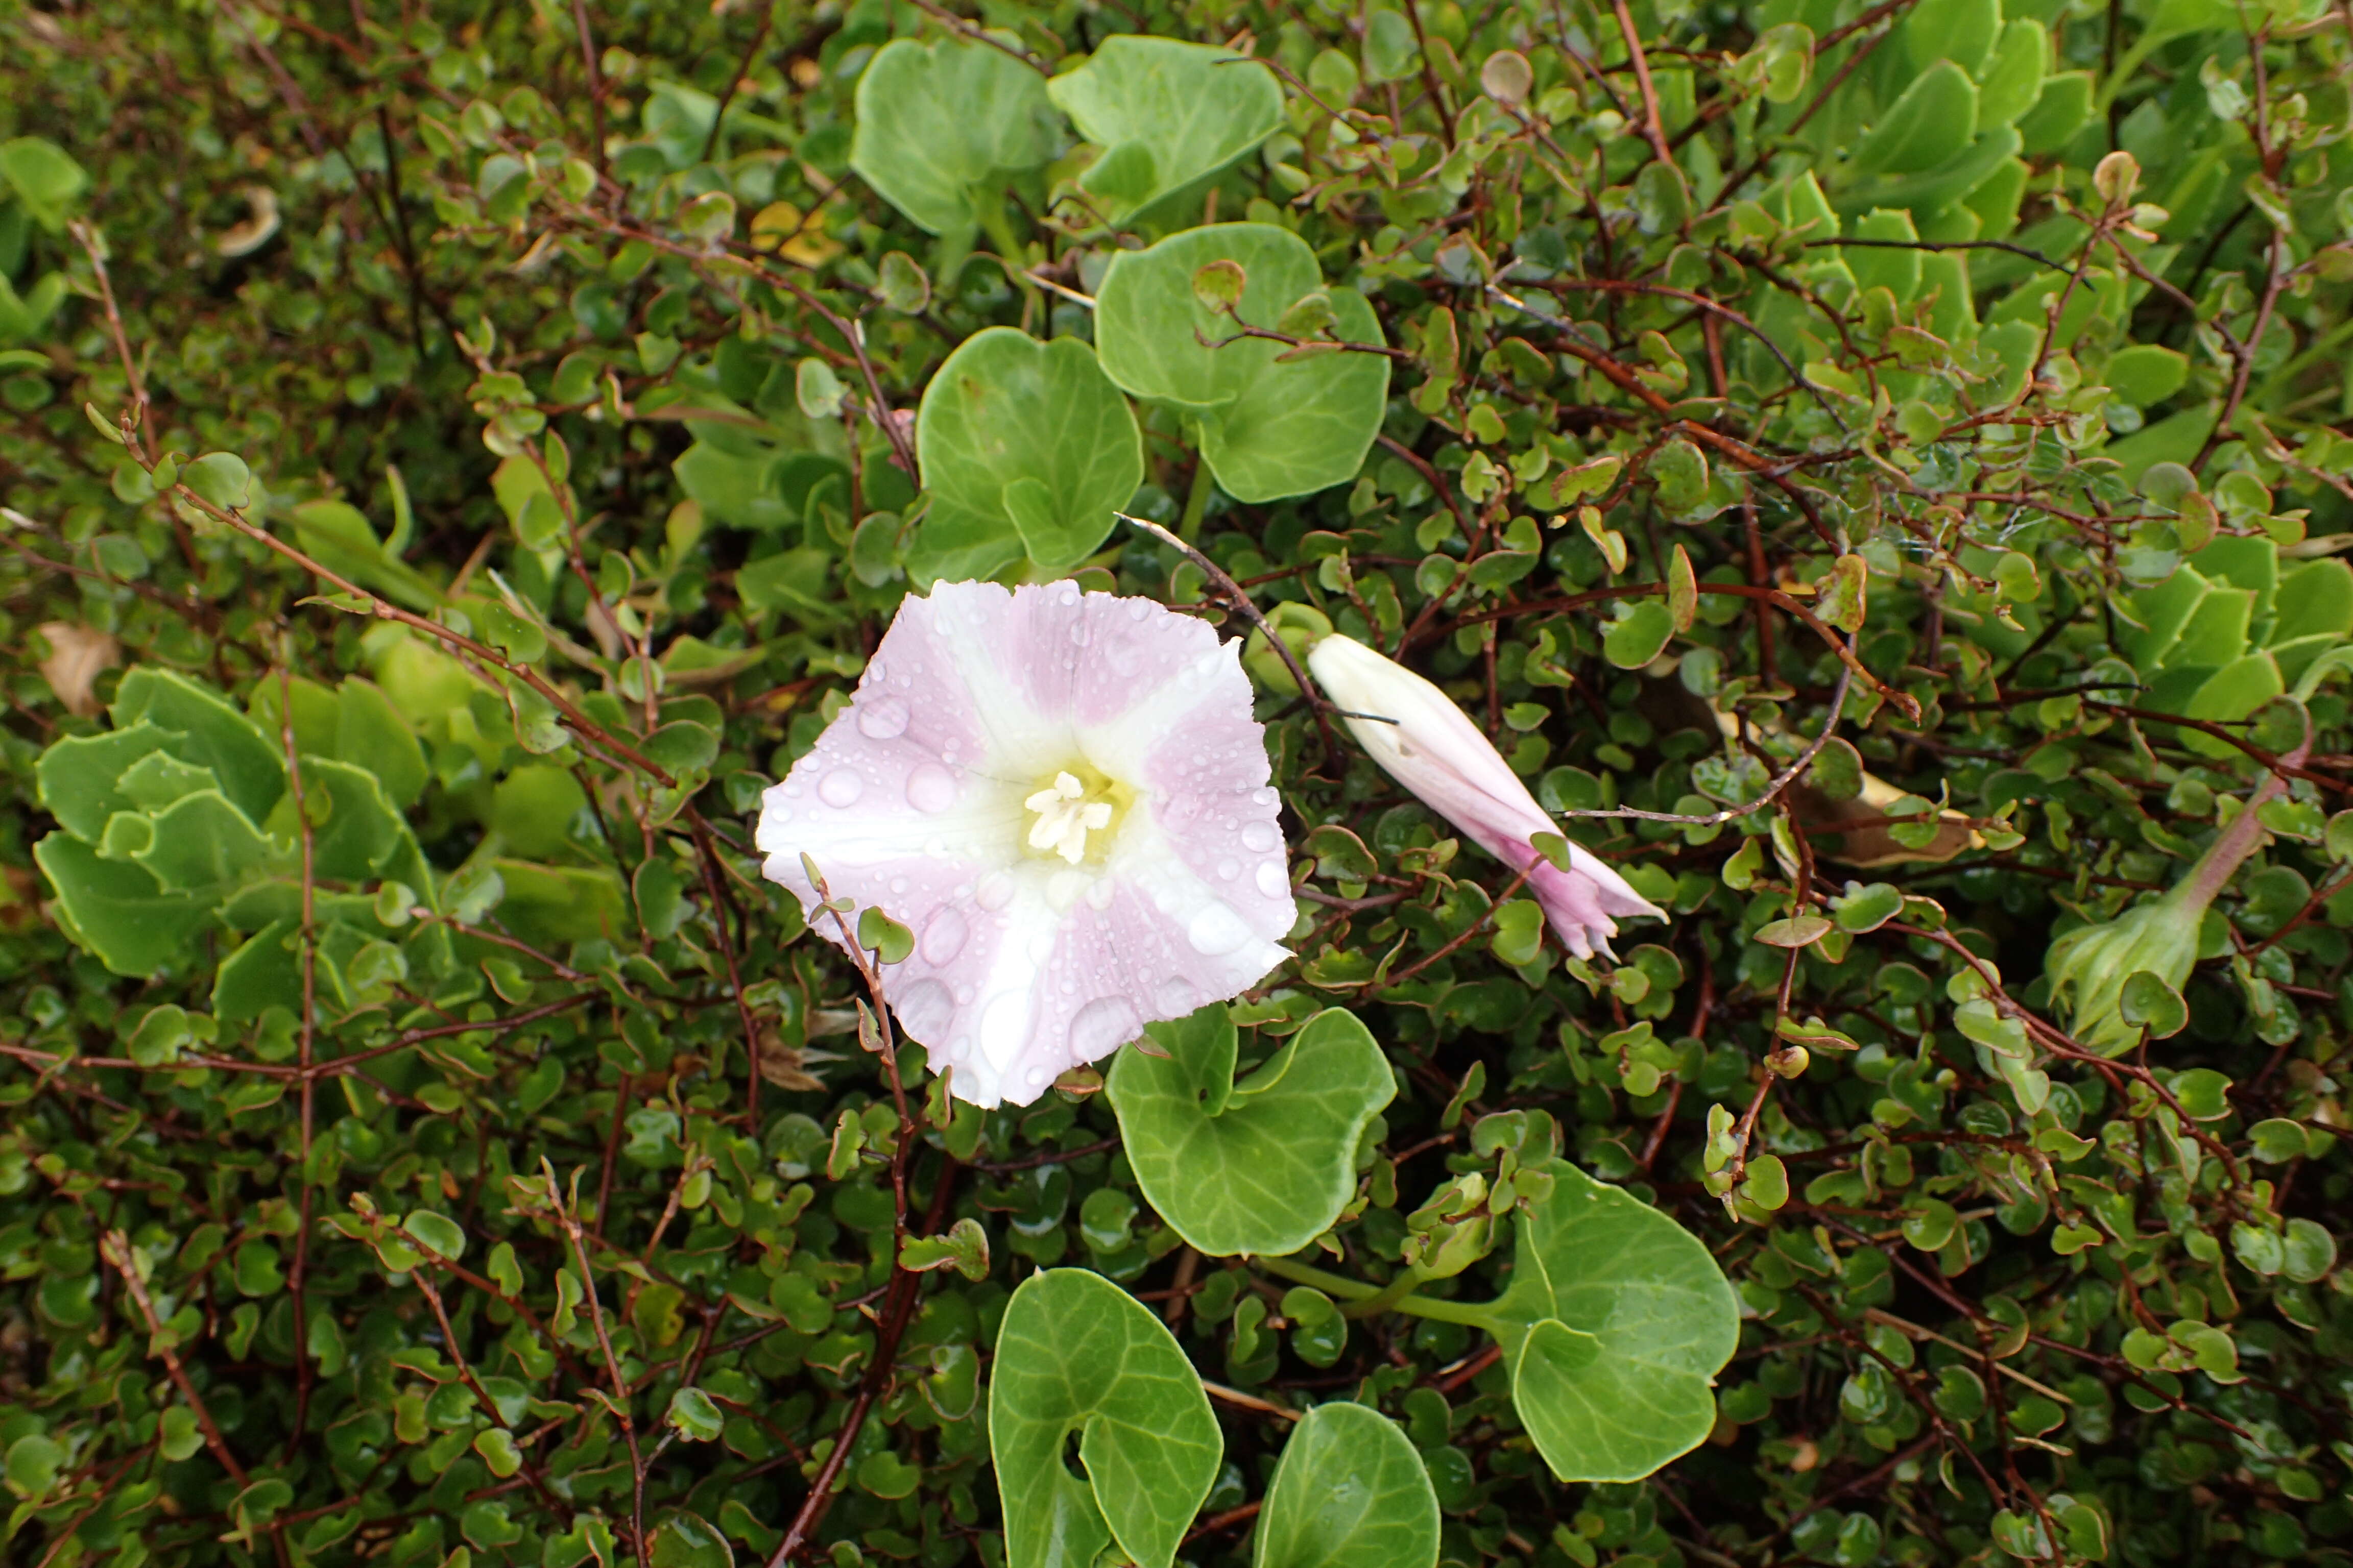
[[[1577,844],[1569,844],[1569,870],[1537,851],[1534,835],[1560,827],[1445,691],[1339,632],[1315,644],[1308,670],[1344,710],[1374,715],[1346,719],[1348,733],[1391,778],[1489,856],[1527,872],[1527,891],[1569,952],[1581,959],[1595,947],[1609,952],[1619,919],[1666,919],[1666,910]]]

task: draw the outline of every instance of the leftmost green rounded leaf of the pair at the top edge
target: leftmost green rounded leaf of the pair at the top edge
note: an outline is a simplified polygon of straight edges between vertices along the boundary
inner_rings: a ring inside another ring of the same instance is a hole
[[[976,38],[899,38],[859,78],[849,167],[939,235],[969,228],[995,181],[1054,155],[1045,78]]]

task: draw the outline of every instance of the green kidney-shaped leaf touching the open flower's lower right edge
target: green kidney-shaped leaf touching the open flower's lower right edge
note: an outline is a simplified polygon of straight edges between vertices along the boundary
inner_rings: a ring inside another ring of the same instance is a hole
[[[1280,1258],[1329,1229],[1355,1192],[1355,1145],[1398,1093],[1372,1032],[1325,1009],[1242,1084],[1221,1004],[1146,1032],[1169,1056],[1122,1051],[1108,1088],[1160,1218],[1212,1258]]]

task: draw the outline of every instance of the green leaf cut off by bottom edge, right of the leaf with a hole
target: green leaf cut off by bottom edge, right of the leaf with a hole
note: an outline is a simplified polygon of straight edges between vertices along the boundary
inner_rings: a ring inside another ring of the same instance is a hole
[[[1360,1403],[1306,1413],[1266,1488],[1252,1568],[1431,1568],[1438,1493],[1398,1422]]]

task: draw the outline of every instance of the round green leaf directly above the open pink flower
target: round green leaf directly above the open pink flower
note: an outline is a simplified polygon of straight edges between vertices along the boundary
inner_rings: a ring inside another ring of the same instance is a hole
[[[1136,416],[1094,350],[1012,327],[965,339],[939,367],[915,449],[934,505],[922,543],[934,524],[958,545],[991,534],[1045,571],[1087,559],[1144,484]]]

